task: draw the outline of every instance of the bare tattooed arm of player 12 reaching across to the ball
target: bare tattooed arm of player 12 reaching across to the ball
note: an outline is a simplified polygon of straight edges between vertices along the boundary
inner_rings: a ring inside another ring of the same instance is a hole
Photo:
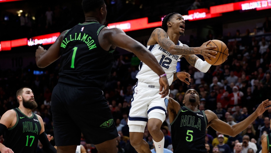
[[[158,43],[163,49],[167,50],[168,52],[170,52],[170,54],[173,55],[201,54],[206,59],[209,59],[208,57],[215,58],[215,56],[212,56],[209,53],[216,54],[216,51],[210,50],[216,48],[216,46],[206,47],[209,42],[210,41],[205,42],[200,47],[184,47],[175,45],[174,42],[168,38],[168,34],[163,29],[157,28],[150,36],[150,39],[148,40],[148,45],[154,45]]]

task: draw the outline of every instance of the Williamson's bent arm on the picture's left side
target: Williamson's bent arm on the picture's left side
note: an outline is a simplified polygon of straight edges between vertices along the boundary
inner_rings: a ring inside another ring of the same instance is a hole
[[[54,44],[52,44],[52,46],[50,46],[48,50],[44,50],[44,48],[38,46],[38,49],[36,50],[37,67],[40,68],[47,67],[48,65],[59,59],[60,57],[59,50],[66,31],[63,31],[59,35],[59,37],[57,37],[57,40],[54,42]]]

